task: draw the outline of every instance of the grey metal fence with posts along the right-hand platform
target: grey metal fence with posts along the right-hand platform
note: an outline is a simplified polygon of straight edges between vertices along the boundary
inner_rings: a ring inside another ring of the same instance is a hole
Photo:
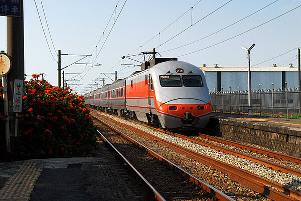
[[[300,89],[301,90],[301,89]],[[301,91],[298,88],[261,89],[251,91],[252,111],[258,115],[301,116]],[[248,91],[210,92],[213,111],[244,114],[248,113]]]

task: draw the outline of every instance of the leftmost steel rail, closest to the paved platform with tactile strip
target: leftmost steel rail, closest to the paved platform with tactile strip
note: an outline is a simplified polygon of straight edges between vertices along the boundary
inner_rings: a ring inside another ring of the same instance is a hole
[[[108,139],[106,139],[106,137],[101,132],[99,132],[99,130],[97,130],[97,132],[99,133],[101,138],[118,154],[118,156],[131,167],[131,169],[150,188],[150,190],[153,191],[155,199],[158,201],[166,201],[166,199],[140,174],[140,172],[114,147],[114,145]]]

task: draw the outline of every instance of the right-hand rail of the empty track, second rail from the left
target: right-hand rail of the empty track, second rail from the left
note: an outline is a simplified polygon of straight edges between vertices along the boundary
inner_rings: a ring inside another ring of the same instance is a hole
[[[171,168],[173,168],[174,170],[178,171],[183,176],[188,177],[191,182],[193,182],[193,183],[201,186],[203,189],[205,189],[207,192],[209,192],[211,196],[217,197],[218,200],[221,200],[221,201],[224,201],[224,200],[225,201],[226,200],[228,200],[228,201],[229,200],[234,201],[234,199],[232,199],[228,195],[224,194],[223,192],[219,191],[218,189],[214,188],[213,186],[209,185],[208,183],[206,183],[206,182],[202,181],[201,179],[197,178],[196,176],[192,175],[188,171],[184,170],[183,168],[181,168],[178,165],[174,164],[173,162],[169,161],[168,159],[166,159],[165,157],[161,156],[160,154],[154,152],[153,150],[147,148],[146,146],[144,146],[141,143],[137,142],[136,140],[132,139],[131,137],[129,137],[125,133],[119,131],[115,127],[109,125],[108,123],[102,121],[101,119],[99,119],[98,117],[96,117],[94,115],[92,115],[92,116],[94,118],[96,118],[98,121],[102,122],[106,126],[110,127],[111,129],[115,130],[116,132],[118,132],[119,134],[121,134],[122,136],[124,136],[126,139],[130,140],[132,143],[134,143],[134,144],[138,145],[139,147],[143,148],[149,154],[153,155],[154,157],[158,158],[160,161],[162,161],[165,164],[169,165]],[[109,120],[111,120],[111,119],[109,119]],[[114,123],[115,123],[115,121],[114,121]]]

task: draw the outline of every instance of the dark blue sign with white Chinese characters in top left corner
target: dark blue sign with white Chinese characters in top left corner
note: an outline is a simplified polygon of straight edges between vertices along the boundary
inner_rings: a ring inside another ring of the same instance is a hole
[[[0,0],[0,16],[22,17],[23,0]]]

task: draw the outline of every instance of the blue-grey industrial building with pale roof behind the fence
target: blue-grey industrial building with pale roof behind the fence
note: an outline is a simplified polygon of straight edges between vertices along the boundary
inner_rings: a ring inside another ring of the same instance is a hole
[[[288,88],[298,87],[298,68],[289,64],[289,67],[251,67],[251,89],[258,90],[259,84],[261,89],[271,89],[272,83],[274,88],[285,88],[287,82]],[[248,67],[199,67],[205,74],[207,85],[210,92],[214,90],[237,91],[248,90]]]

